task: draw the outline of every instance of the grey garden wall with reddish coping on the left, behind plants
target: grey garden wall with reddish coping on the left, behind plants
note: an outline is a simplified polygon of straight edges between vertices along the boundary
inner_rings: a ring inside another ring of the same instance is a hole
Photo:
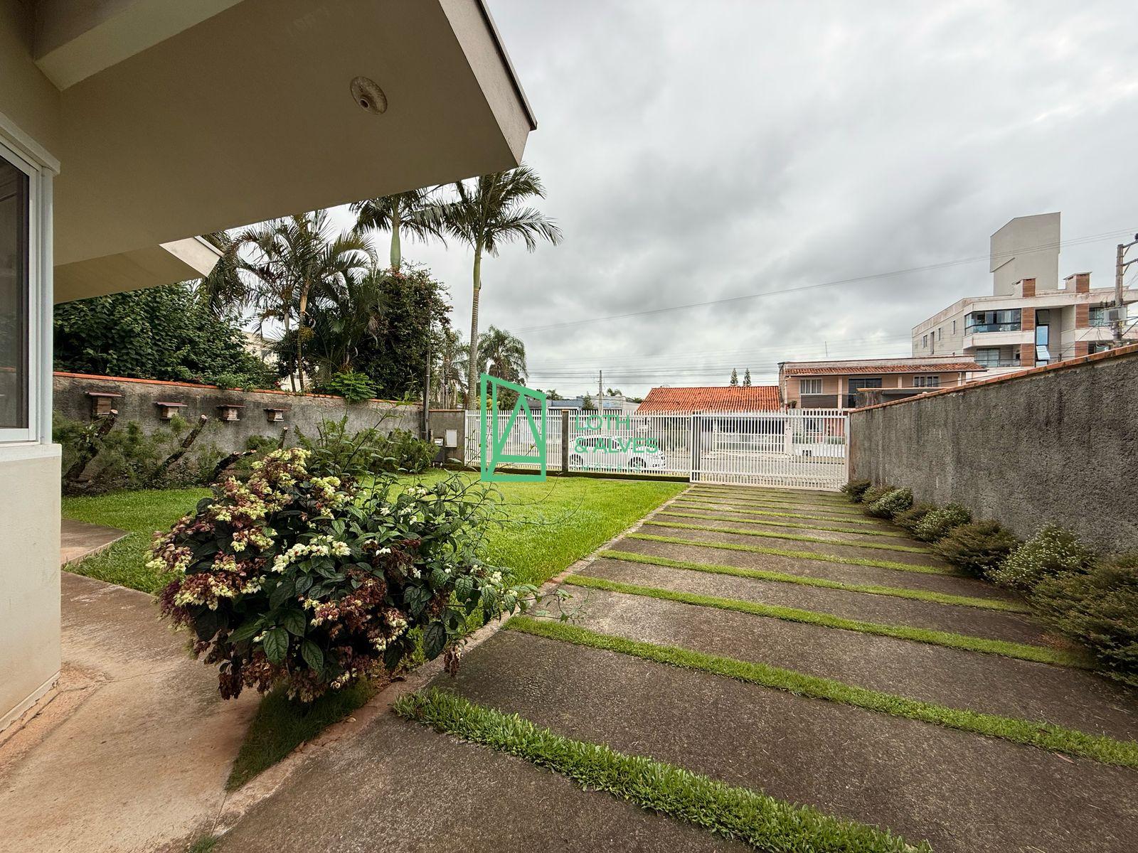
[[[55,411],[71,420],[90,421],[92,406],[99,399],[92,395],[107,394],[118,395],[101,398],[110,408],[118,412],[118,424],[134,421],[148,432],[166,424],[160,416],[163,407],[158,405],[159,403],[182,404],[172,411],[191,424],[201,415],[207,415],[211,423],[199,441],[214,444],[225,453],[245,449],[246,440],[251,436],[278,438],[283,426],[289,428],[289,444],[294,444],[297,430],[306,436],[314,436],[321,421],[339,420],[344,415],[347,415],[352,430],[379,426],[385,432],[404,429],[415,436],[422,430],[422,408],[418,404],[391,400],[346,403],[339,397],[315,394],[240,391],[188,382],[159,382],[80,373],[55,374]],[[223,420],[221,407],[226,405],[240,406],[234,409],[238,420]],[[280,412],[282,420],[271,422],[270,416],[273,413],[270,409],[283,409]],[[430,422],[432,433],[439,438],[444,436],[445,429],[459,430],[456,453],[461,456],[462,413],[432,411]]]

